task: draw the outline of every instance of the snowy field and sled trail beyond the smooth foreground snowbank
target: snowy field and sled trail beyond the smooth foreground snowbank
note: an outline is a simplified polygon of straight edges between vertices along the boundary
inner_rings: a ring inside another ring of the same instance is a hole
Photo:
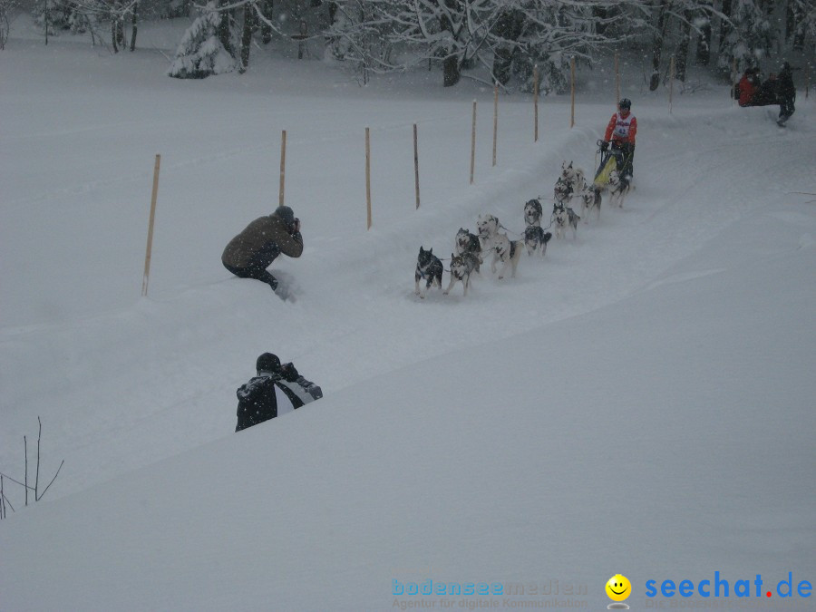
[[[85,83],[63,78],[70,55],[49,55],[36,69],[44,79],[55,71],[70,108],[84,110],[66,130],[58,113],[42,127],[44,108],[56,110],[45,80],[25,76],[34,70],[26,62],[48,52],[8,52],[2,76],[21,87],[4,92],[19,154],[0,228],[0,466],[19,463],[22,437],[33,435],[40,415],[48,456],[68,466],[49,491],[54,497],[231,432],[234,390],[264,351],[295,361],[327,394],[433,355],[481,354],[489,372],[493,345],[660,282],[734,222],[813,190],[811,106],[802,104],[780,131],[766,109],[731,107],[719,92],[689,97],[673,115],[659,96],[630,96],[640,130],[636,189],[623,209],[605,201],[600,221],[581,223],[577,239],[553,239],[543,259],[523,255],[516,278],[498,281],[485,267],[467,298],[440,291],[420,301],[413,270],[421,246],[448,257],[456,231],[474,231],[487,213],[520,232],[528,199],[540,196],[548,216],[563,160],[594,170],[607,102],[579,103],[578,125],[569,130],[568,105],[546,100],[542,136],[533,143],[529,101],[502,98],[496,168],[491,104],[482,103],[469,186],[471,99],[487,102],[488,91],[440,92],[437,83],[420,83],[408,96],[374,86],[338,92],[318,80],[293,97],[268,92],[262,67],[232,91],[229,76],[169,83],[140,57],[131,69],[143,73],[132,83],[118,65],[100,62],[92,79],[106,86],[89,99]],[[271,67],[292,83],[305,78],[300,67]],[[169,102],[150,112],[134,93],[169,87]],[[267,127],[263,138],[253,121],[209,121],[238,103],[242,116]],[[420,126],[419,210],[406,117]],[[368,232],[367,125],[374,153]],[[291,281],[296,304],[230,277],[219,263],[229,238],[277,205],[282,129],[287,204],[303,219],[306,248],[272,269]],[[123,149],[122,139],[131,145]],[[162,176],[151,294],[139,299],[156,151]],[[35,160],[49,172],[37,171]]]

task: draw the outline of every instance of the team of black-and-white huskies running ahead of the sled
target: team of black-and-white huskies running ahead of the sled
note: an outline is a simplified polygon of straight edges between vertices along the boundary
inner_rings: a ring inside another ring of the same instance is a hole
[[[613,204],[623,207],[623,200],[628,191],[628,183],[620,180],[617,170],[612,170],[609,175],[608,185],[610,199]],[[581,215],[579,216],[570,206],[573,199],[578,199],[581,205]],[[516,268],[519,266],[522,248],[527,249],[529,256],[538,253],[541,257],[547,252],[547,244],[552,238],[552,233],[546,231],[553,228],[556,238],[561,238],[567,233],[568,228],[572,229],[572,237],[576,238],[578,232],[578,221],[581,217],[584,222],[588,221],[588,214],[595,210],[595,218],[600,219],[601,188],[596,184],[588,184],[584,170],[573,166],[572,161],[566,160],[561,163],[561,173],[553,189],[553,208],[550,215],[549,226],[541,227],[543,209],[539,199],[530,199],[524,205],[524,233],[520,240],[510,240],[506,233],[501,233],[504,228],[498,217],[493,215],[480,215],[476,221],[476,234],[471,234],[469,229],[459,228],[453,240],[453,252],[451,254],[451,282],[442,291],[448,295],[456,283],[461,283],[463,295],[468,295],[468,287],[471,282],[471,275],[480,272],[483,257],[492,252],[491,272],[496,274],[499,264],[499,278],[504,278],[508,271],[510,277],[516,276]],[[433,249],[425,250],[420,247],[419,256],[416,261],[416,271],[414,273],[414,294],[420,297],[425,296],[425,291],[433,285],[442,288],[442,260],[433,255]]]

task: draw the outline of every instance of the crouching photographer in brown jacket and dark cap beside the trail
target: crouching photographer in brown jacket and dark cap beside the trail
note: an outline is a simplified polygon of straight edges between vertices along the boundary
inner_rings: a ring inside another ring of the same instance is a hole
[[[255,278],[275,291],[277,278],[267,267],[281,253],[289,257],[303,253],[300,219],[288,206],[279,206],[271,215],[255,219],[232,238],[221,255],[221,263],[235,276]]]

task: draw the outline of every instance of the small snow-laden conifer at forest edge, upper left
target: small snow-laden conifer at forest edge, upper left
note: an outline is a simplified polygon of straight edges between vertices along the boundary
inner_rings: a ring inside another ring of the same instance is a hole
[[[179,79],[203,79],[235,70],[235,45],[229,15],[219,10],[219,0],[209,0],[203,13],[181,39],[168,75]]]

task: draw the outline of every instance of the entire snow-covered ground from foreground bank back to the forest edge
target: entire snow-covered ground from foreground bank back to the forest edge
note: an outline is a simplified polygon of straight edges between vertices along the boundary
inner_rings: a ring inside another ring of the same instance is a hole
[[[166,32],[140,36],[166,49]],[[785,130],[714,83],[670,114],[630,66],[624,208],[525,254],[516,278],[421,301],[421,245],[450,257],[485,213],[519,232],[562,160],[591,171],[608,70],[580,74],[572,129],[568,96],[541,99],[538,143],[529,96],[500,96],[493,168],[491,90],[438,73],[360,88],[258,57],[184,82],[155,51],[71,37],[13,37],[2,59],[0,471],[22,478],[38,416],[41,484],[65,465],[28,509],[5,482],[0,609],[441,608],[399,592],[429,579],[504,588],[455,607],[598,609],[616,573],[643,609],[707,604],[647,599],[646,581],[715,571],[772,591],[725,603],[812,607],[776,591],[816,580],[816,205],[797,193],[816,191],[812,99]],[[277,206],[282,130],[306,248],[272,270],[295,303],[219,260]],[[264,351],[325,398],[234,434]]]

